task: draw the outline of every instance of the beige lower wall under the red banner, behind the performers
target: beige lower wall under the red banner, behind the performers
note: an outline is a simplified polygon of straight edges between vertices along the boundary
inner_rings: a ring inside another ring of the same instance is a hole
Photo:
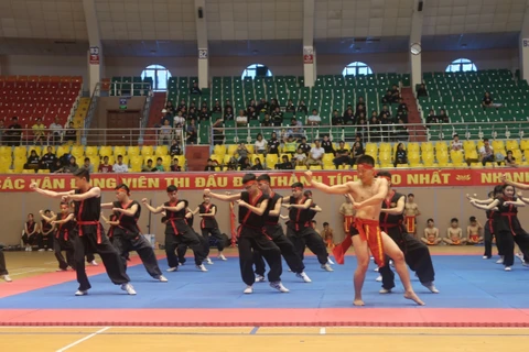
[[[309,188],[307,188],[309,189]],[[415,195],[415,201],[419,205],[421,217],[418,219],[418,231],[423,233],[425,222],[429,218],[435,220],[436,227],[440,229],[441,234],[446,233],[446,228],[450,226],[451,218],[458,218],[460,226],[466,233],[466,226],[468,218],[475,216],[479,219],[482,224],[485,223],[485,211],[473,208],[465,199],[465,195],[477,194],[479,198],[485,198],[489,191],[489,187],[439,187],[439,188],[396,188],[403,194],[413,193]],[[229,191],[226,189],[226,191]],[[234,191],[234,190],[231,190]],[[238,191],[238,190],[237,190]],[[288,196],[290,191],[288,189],[280,190],[281,195]],[[134,191],[132,198],[140,201],[142,198],[149,198],[152,200],[153,206],[161,205],[166,201],[166,194],[163,191]],[[202,201],[202,191],[181,191],[180,197],[190,201],[190,207],[194,209]],[[335,230],[336,242],[343,239],[343,226],[341,216],[338,213],[339,206],[344,198],[342,196],[328,196],[321,191],[313,190],[314,201],[323,208],[323,212],[319,213],[315,218],[319,224],[319,229],[322,228],[322,223],[327,221]],[[110,202],[115,200],[115,194],[107,191],[104,193],[102,201]],[[0,243],[18,244],[20,242],[23,223],[26,215],[33,212],[37,219],[39,210],[52,209],[55,212],[58,211],[58,200],[45,198],[37,194],[26,193],[0,193],[0,213],[2,217],[2,232],[0,232]],[[229,228],[229,205],[222,201],[214,201],[218,206],[217,220],[220,227],[220,231],[230,234]],[[142,216],[139,224],[144,233],[154,233],[156,240],[163,243],[164,226],[160,222],[161,216],[152,215],[149,217],[149,211],[142,209]],[[529,229],[529,217],[527,212],[529,210],[520,210],[520,221],[526,229]],[[109,211],[107,210],[108,215]],[[282,211],[287,215],[287,210]],[[149,218],[151,218],[151,227],[149,228]],[[199,219],[195,217],[195,230],[199,230]]]

